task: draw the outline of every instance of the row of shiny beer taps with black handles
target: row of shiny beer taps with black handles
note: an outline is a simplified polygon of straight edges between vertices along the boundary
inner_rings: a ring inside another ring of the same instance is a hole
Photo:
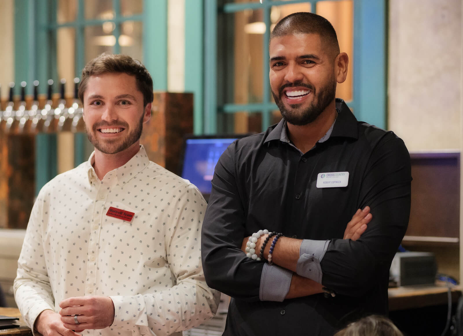
[[[33,101],[30,108],[26,109],[26,82],[21,82],[20,102],[17,108],[13,109],[14,104],[14,86],[10,83],[10,91],[6,108],[0,108],[0,132],[8,134],[18,133],[54,133],[62,131],[83,132],[85,124],[82,119],[82,108],[79,104],[78,90],[79,78],[74,79],[74,98],[70,104],[66,104],[64,95],[66,80],[60,81],[60,99],[56,104],[52,99],[53,79],[47,82],[47,99],[42,104],[39,103],[38,97],[38,80],[33,85]],[[0,86],[1,88],[1,86]],[[41,99],[43,101],[43,99]]]

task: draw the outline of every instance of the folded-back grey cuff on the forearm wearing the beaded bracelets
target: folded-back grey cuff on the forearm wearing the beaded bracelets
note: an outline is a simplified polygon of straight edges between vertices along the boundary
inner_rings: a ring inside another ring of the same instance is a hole
[[[302,244],[300,244],[296,273],[321,283],[323,273],[320,263],[329,244],[330,240],[303,239]]]

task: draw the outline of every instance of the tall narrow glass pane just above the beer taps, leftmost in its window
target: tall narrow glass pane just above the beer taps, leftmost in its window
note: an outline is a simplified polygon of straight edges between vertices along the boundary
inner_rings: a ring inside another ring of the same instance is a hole
[[[66,95],[74,94],[75,77],[75,28],[59,28],[56,31],[56,63],[58,78],[66,79]],[[58,86],[55,87],[58,92]]]

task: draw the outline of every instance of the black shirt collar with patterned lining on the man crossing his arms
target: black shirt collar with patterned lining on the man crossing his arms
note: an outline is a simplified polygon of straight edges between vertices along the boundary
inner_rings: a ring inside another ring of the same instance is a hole
[[[358,139],[357,119],[352,114],[347,104],[343,99],[336,98],[336,107],[339,110],[338,117],[318,142],[325,142],[330,137],[334,136]],[[282,119],[269,133],[264,143],[272,140],[289,142],[286,121],[284,119]]]

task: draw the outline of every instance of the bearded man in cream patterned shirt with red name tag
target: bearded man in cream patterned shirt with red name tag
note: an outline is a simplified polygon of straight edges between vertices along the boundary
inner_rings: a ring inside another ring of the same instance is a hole
[[[40,191],[14,282],[25,321],[44,336],[181,335],[213,317],[194,185],[151,162],[139,144],[153,82],[124,55],[82,71],[87,162]]]

